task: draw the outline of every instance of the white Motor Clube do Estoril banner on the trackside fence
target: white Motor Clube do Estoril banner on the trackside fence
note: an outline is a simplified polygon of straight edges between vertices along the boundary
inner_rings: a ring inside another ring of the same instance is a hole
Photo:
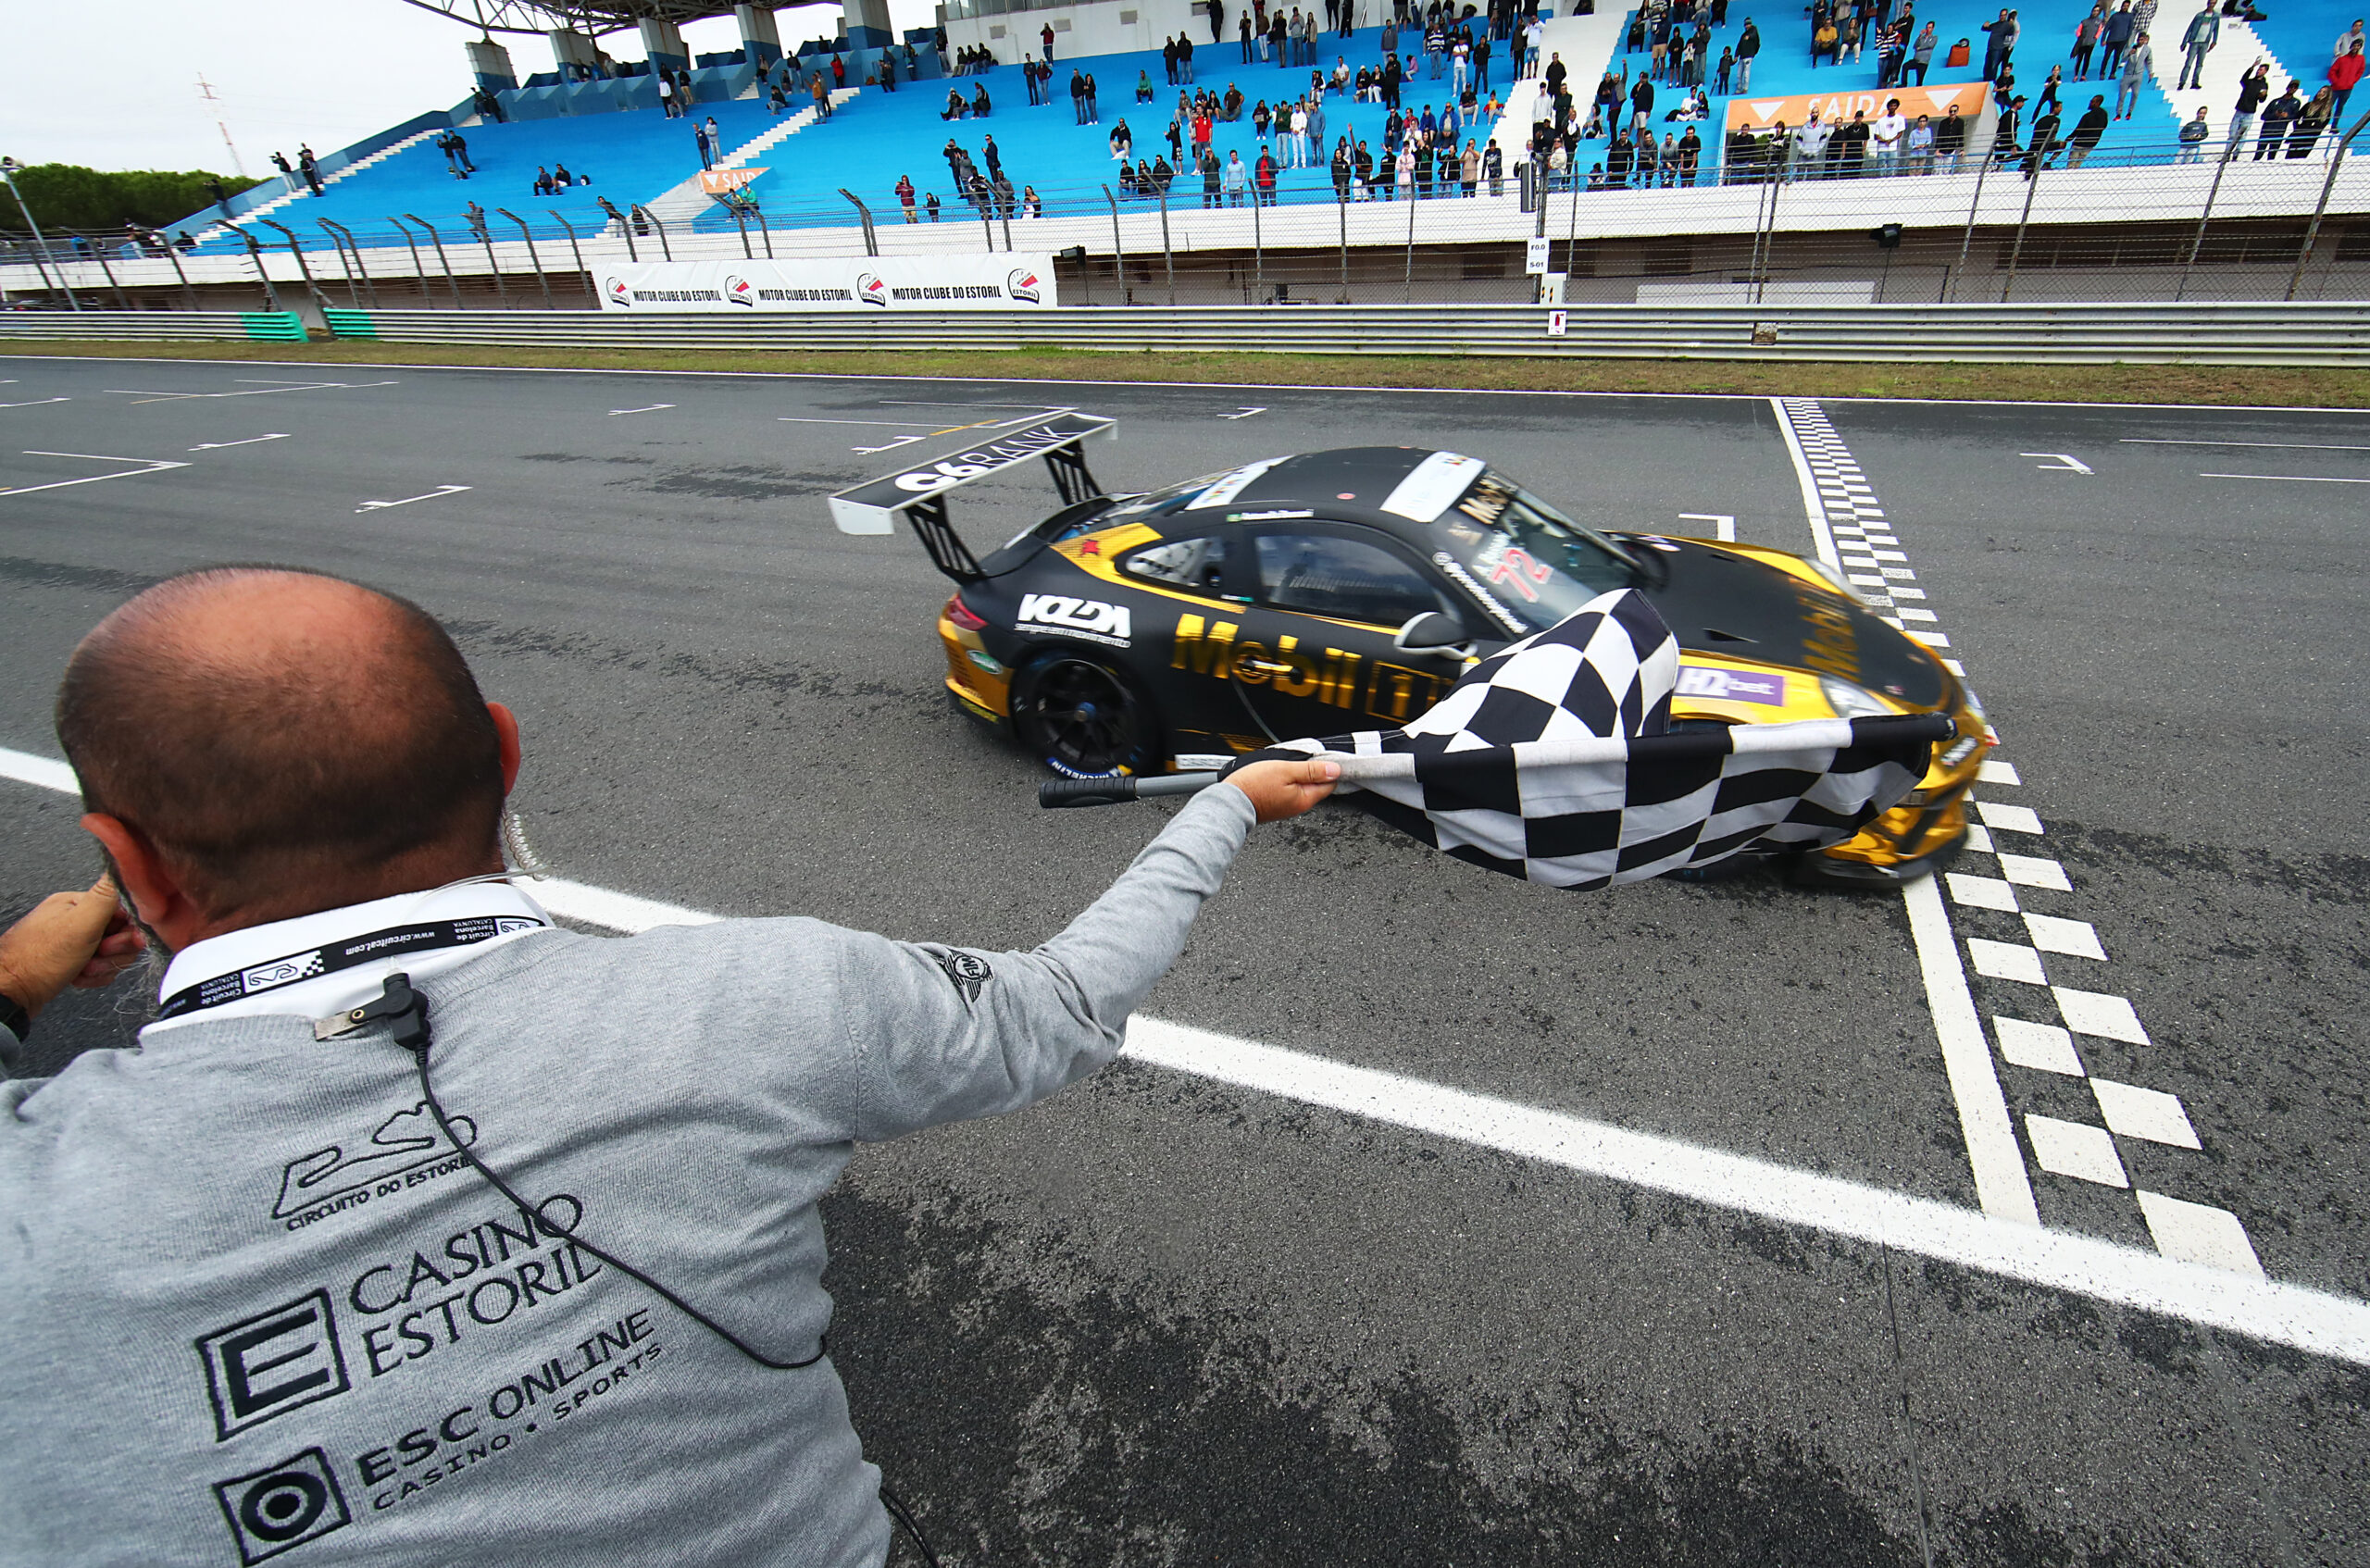
[[[602,310],[1052,310],[1052,256],[642,261],[600,272]]]

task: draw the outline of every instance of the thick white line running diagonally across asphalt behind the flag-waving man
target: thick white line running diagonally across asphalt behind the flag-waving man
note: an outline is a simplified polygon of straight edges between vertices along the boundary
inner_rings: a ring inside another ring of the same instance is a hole
[[[73,770],[64,763],[26,751],[0,748],[0,777],[66,793],[78,789]],[[720,919],[581,881],[545,879],[531,883],[531,893],[552,914],[626,933]],[[2346,1296],[2180,1262],[2095,1236],[2048,1232],[1955,1203],[1913,1199],[1142,1014],[1128,1023],[1126,1054],[1145,1066],[1192,1073],[1304,1106],[2370,1367],[2370,1303]]]

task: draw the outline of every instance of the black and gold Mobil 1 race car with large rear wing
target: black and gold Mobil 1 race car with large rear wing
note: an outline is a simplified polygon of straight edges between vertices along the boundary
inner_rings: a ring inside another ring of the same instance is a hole
[[[1680,647],[1673,730],[1946,713],[1920,786],[1796,862],[1811,881],[1932,874],[1967,836],[1998,744],[1967,682],[1825,561],[1576,521],[1462,452],[1377,445],[1268,457],[1104,495],[1066,412],[832,497],[846,533],[903,516],[955,595],[946,689],[1050,770],[1199,772],[1277,739],[1389,730],[1474,661],[1588,599],[1640,590]],[[1062,509],[979,559],[948,493],[1043,457]]]

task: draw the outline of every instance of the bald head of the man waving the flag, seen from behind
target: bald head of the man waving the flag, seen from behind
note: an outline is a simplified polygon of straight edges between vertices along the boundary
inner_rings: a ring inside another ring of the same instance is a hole
[[[159,583],[73,651],[57,737],[85,808],[209,928],[500,867],[502,739],[469,666],[417,604],[356,583]]]

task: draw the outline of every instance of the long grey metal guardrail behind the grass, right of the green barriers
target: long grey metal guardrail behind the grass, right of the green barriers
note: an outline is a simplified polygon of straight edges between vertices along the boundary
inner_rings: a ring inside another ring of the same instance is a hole
[[[1398,353],[2370,367],[2370,301],[2202,306],[1183,306],[626,315],[329,310],[348,339],[512,348]]]

